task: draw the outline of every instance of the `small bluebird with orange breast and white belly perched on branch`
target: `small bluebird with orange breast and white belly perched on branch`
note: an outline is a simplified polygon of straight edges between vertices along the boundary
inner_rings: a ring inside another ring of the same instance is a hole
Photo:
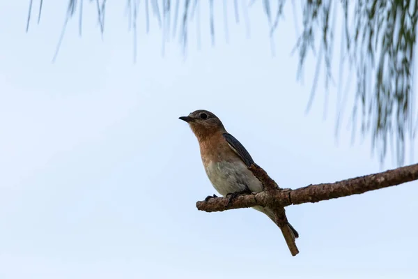
[[[226,132],[221,120],[215,114],[207,110],[196,110],[189,116],[179,118],[189,123],[196,135],[206,174],[219,194],[231,198],[240,193],[263,191],[263,184],[248,169],[254,160],[245,147],[233,135]],[[254,206],[253,209],[265,213],[278,225],[272,209],[263,206]],[[299,237],[297,231],[291,224],[287,225],[291,229],[293,240],[297,239]]]

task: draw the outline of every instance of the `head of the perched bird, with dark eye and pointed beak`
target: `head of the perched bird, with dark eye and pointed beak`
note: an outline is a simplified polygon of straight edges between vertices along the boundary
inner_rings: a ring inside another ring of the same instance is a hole
[[[189,123],[198,140],[204,140],[215,133],[226,132],[221,120],[207,110],[195,110],[188,116],[181,116],[179,119]]]

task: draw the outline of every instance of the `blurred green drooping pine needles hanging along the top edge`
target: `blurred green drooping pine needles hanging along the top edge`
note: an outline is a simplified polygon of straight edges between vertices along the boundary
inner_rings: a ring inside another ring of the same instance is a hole
[[[82,33],[83,5],[91,3],[97,8],[100,31],[104,31],[104,18],[107,0],[64,0],[68,1],[63,33],[68,20],[79,20],[79,33]],[[125,0],[129,10],[129,24],[134,33],[137,29],[137,14],[139,6],[146,11],[144,20],[146,32],[149,31],[150,15],[158,22],[164,36],[179,38],[183,49],[187,47],[187,27],[193,17],[199,17],[200,5],[198,0]],[[210,34],[212,44],[215,44],[214,5],[223,4],[224,22],[229,16],[227,8],[233,7],[233,16],[240,22],[243,15],[245,24],[248,23],[247,8],[254,2],[261,2],[267,17],[270,33],[278,27],[279,18],[283,15],[286,0],[206,0],[209,3]],[[38,0],[38,22],[42,11],[42,0]],[[304,61],[309,51],[317,55],[317,68],[312,86],[310,107],[314,99],[316,83],[321,69],[325,64],[325,87],[332,81],[332,49],[334,45],[334,27],[336,25],[336,11],[343,15],[341,30],[341,61],[338,86],[341,94],[343,84],[343,65],[350,66],[348,81],[355,73],[356,102],[353,107],[353,136],[355,123],[360,117],[362,135],[371,135],[373,151],[378,151],[380,162],[387,156],[388,146],[398,165],[405,161],[405,144],[410,142],[413,147],[417,115],[415,114],[414,98],[414,50],[418,17],[418,0],[306,0],[300,3],[302,7],[303,30],[297,40],[295,50],[299,52],[299,76],[302,74]],[[296,15],[296,2],[291,0],[293,15]],[[273,8],[274,6],[274,8]],[[29,4],[27,28],[31,22],[33,0]],[[240,12],[242,10],[242,12]],[[199,24],[199,19],[194,21]],[[297,24],[297,21],[296,23]],[[226,40],[228,40],[228,26],[224,26]],[[27,31],[27,30],[26,30]],[[178,32],[176,34],[176,32]],[[62,36],[61,36],[62,40]],[[61,43],[60,40],[60,43]],[[200,37],[198,38],[200,43]],[[164,44],[163,44],[164,47]],[[319,48],[318,54],[316,49]],[[134,50],[137,49],[136,37]],[[164,51],[164,50],[163,50]],[[136,58],[136,54],[134,54]],[[337,130],[339,129],[339,116]]]

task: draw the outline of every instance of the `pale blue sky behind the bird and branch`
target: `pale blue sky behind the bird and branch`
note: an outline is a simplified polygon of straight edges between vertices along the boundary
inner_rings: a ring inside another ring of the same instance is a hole
[[[300,234],[296,257],[258,211],[196,209],[215,190],[178,119],[194,110],[217,114],[283,188],[396,167],[371,156],[369,136],[352,142],[353,100],[336,105],[337,86],[326,95],[323,77],[305,113],[316,59],[297,82],[291,5],[274,56],[256,1],[250,36],[231,17],[228,43],[215,6],[215,47],[202,6],[201,47],[193,23],[186,57],[177,40],[162,56],[155,20],[148,35],[139,22],[134,63],[125,3],[109,1],[103,36],[95,5],[86,4],[82,37],[78,19],[70,21],[52,63],[67,6],[54,2],[44,1],[29,33],[29,1],[0,2],[1,279],[416,278],[416,181],[288,206]],[[338,77],[339,43],[334,57]]]

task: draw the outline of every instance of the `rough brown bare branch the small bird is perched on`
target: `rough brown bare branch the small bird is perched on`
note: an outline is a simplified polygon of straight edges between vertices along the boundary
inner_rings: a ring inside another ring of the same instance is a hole
[[[263,179],[265,179],[265,176],[268,176],[261,167],[251,165],[249,169],[251,169],[254,175],[262,182]],[[289,206],[292,204],[320,202],[328,199],[336,199],[338,197],[358,195],[371,190],[396,186],[417,179],[418,164],[415,164],[406,167],[398,167],[397,169],[391,169],[377,174],[346,179],[335,183],[311,184],[295,190],[275,188],[255,194],[240,195],[235,197],[228,207],[226,207],[226,203],[228,202],[226,197],[209,199],[207,202],[199,201],[196,202],[196,207],[201,211],[215,212],[228,209],[247,208],[256,205]]]

